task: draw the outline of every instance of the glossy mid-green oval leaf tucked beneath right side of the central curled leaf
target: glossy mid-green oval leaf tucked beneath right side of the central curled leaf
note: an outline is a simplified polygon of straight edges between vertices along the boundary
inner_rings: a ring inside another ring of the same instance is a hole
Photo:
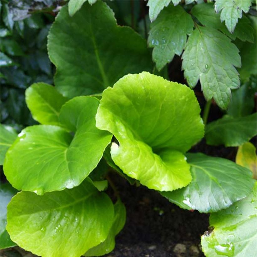
[[[172,192],[162,192],[170,202],[187,210],[217,212],[251,192],[252,173],[233,161],[201,153],[187,154],[192,182]]]

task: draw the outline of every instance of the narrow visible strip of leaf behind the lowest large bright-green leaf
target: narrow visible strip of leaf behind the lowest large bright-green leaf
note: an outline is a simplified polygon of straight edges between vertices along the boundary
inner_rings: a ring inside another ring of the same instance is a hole
[[[115,236],[122,230],[126,222],[126,208],[118,200],[114,205],[113,225],[109,231],[107,239],[101,244],[89,249],[84,256],[101,256],[110,253],[115,247]]]

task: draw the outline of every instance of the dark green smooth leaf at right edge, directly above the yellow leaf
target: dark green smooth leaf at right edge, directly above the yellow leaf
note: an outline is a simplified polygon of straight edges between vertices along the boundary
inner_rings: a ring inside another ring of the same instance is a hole
[[[207,124],[206,143],[210,145],[224,144],[226,147],[244,144],[257,134],[256,119],[256,113],[242,118],[224,115]]]

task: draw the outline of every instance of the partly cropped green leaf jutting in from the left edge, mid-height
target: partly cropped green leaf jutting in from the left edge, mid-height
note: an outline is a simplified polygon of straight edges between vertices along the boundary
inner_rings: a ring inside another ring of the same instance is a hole
[[[0,124],[0,165],[3,165],[4,157],[17,138],[17,133],[11,126]]]

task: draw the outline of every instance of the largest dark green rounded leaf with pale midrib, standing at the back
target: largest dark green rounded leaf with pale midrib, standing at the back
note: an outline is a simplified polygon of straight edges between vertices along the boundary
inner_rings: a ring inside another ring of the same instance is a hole
[[[118,26],[102,1],[85,3],[73,17],[63,7],[49,32],[48,52],[57,67],[55,86],[67,97],[100,93],[125,74],[152,70],[145,40]]]

